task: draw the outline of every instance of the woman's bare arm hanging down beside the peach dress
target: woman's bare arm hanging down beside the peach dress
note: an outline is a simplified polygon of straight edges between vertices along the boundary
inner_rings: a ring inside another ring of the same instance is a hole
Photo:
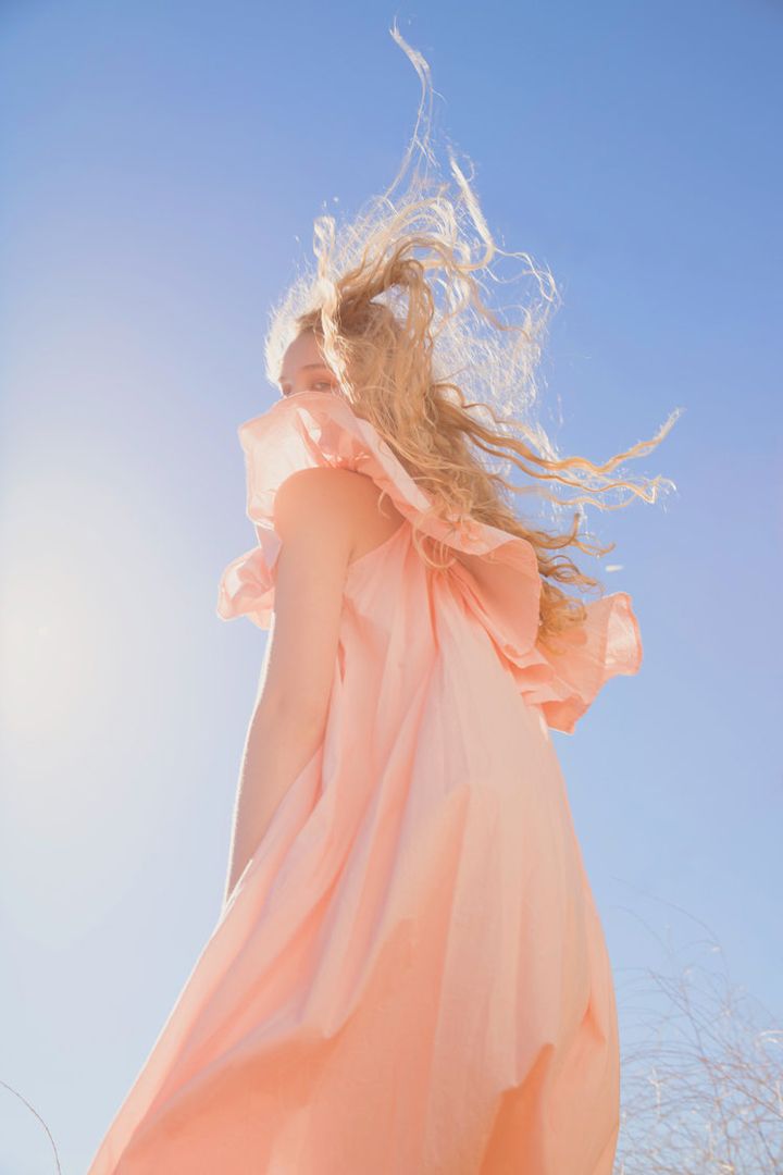
[[[343,589],[362,502],[359,474],[305,469],[275,498],[275,613],[245,738],[224,904],[325,728]]]

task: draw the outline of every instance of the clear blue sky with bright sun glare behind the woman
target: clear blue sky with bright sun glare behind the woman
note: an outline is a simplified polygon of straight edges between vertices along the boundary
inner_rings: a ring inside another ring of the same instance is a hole
[[[632,464],[676,492],[588,516],[642,670],[554,736],[621,1016],[664,940],[783,1013],[779,6],[8,0],[0,1080],[68,1175],[218,915],[265,639],[215,611],[254,542],[236,427],[313,216],[407,143],[396,13],[490,226],[560,284],[561,451],[686,409]],[[0,1171],[55,1169],[2,1087],[0,1127]]]

